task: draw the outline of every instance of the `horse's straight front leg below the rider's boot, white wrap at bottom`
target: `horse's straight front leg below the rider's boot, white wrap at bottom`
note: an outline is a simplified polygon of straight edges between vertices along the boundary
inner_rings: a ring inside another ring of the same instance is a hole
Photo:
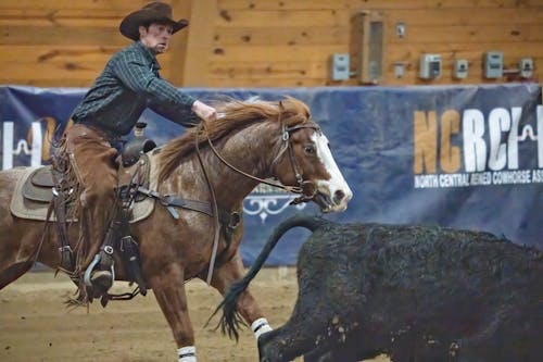
[[[182,266],[172,262],[148,275],[148,279],[174,334],[178,362],[195,362],[194,330],[189,316]]]

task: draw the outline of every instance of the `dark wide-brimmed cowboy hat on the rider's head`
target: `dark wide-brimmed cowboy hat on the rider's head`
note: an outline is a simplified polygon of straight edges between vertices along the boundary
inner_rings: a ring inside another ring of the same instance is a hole
[[[185,18],[177,22],[172,18],[172,7],[169,4],[154,1],[126,15],[121,22],[118,29],[125,37],[139,40],[139,26],[152,22],[172,25],[174,28],[173,33],[177,33],[189,25],[189,22]]]

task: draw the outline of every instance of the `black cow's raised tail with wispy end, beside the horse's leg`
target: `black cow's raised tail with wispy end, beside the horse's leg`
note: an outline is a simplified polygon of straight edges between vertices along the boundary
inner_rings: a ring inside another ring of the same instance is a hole
[[[295,215],[280,223],[268,237],[266,245],[261,250],[258,257],[256,257],[256,260],[254,261],[253,265],[251,265],[251,269],[245,274],[245,276],[232,283],[232,285],[228,289],[228,292],[225,295],[220,304],[218,304],[218,307],[215,309],[207,323],[215,314],[217,314],[220,309],[223,309],[223,316],[220,317],[217,328],[220,326],[220,330],[223,332],[223,334],[228,334],[230,338],[233,337],[236,338],[236,340],[238,340],[238,329],[241,325],[245,325],[245,323],[241,319],[241,315],[236,310],[238,299],[240,295],[245,291],[251,280],[256,276],[262,265],[264,265],[264,262],[269,257],[272,250],[277,245],[279,239],[283,236],[285,233],[293,227],[302,226],[313,233],[325,223],[329,222],[318,216],[306,215]]]

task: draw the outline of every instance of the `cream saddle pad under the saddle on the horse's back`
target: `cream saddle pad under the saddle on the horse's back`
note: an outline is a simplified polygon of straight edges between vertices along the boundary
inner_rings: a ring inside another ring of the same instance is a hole
[[[156,173],[156,161],[155,158],[150,155],[150,184],[149,188],[151,190],[156,190],[157,187],[157,173]],[[40,166],[43,167],[43,166]],[[15,184],[15,190],[11,199],[11,213],[21,219],[29,219],[37,221],[46,221],[47,210],[49,203],[45,202],[34,202],[23,197],[23,188],[28,177],[35,173],[39,167],[23,167],[20,177]],[[137,223],[146,217],[148,217],[154,209],[154,199],[146,198],[142,201],[136,202],[131,208],[130,212],[130,223]],[[54,212],[51,213],[51,221],[55,221]]]

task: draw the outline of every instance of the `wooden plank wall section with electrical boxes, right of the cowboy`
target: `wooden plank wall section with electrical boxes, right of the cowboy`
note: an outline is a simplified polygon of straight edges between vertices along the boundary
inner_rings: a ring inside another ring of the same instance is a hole
[[[533,58],[534,78],[543,78],[541,0],[218,0],[218,11],[210,60],[210,80],[216,86],[356,84],[329,80],[329,58],[351,53],[356,59],[352,23],[364,11],[384,21],[383,85],[515,79],[483,78],[482,55],[492,50],[504,52],[506,68]],[[399,22],[406,25],[403,38],[395,33]],[[441,78],[418,78],[424,52],[442,55]],[[453,78],[455,58],[468,60],[467,79]],[[396,62],[405,66],[402,78],[394,76]]]

